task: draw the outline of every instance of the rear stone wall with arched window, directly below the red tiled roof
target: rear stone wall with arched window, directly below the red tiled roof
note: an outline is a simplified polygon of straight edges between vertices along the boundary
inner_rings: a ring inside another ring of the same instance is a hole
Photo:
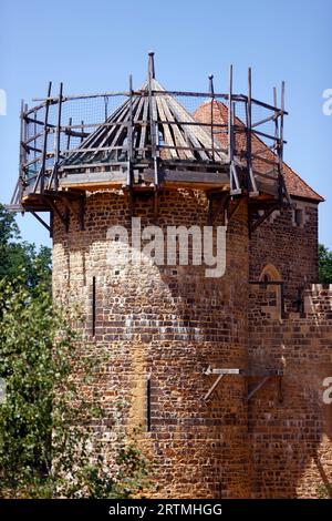
[[[295,308],[298,288],[318,282],[318,205],[294,200],[303,210],[303,223],[297,225],[293,211],[272,214],[250,239],[250,278],[258,280],[266,265],[272,264],[286,282],[284,296],[289,309]]]

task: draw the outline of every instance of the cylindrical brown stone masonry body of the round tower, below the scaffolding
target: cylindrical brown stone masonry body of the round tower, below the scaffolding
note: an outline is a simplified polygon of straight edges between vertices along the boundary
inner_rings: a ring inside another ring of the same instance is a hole
[[[206,196],[164,192],[157,222],[153,197],[141,196],[135,215],[145,224],[207,224]],[[219,215],[216,225],[222,224]],[[227,269],[206,278],[205,266],[127,265],[120,242],[106,239],[111,225],[131,226],[122,192],[87,196],[85,231],[71,215],[69,233],[54,216],[53,290],[79,304],[84,335],[98,364],[94,395],[106,412],[95,426],[103,450],[114,453],[116,430],[138,443],[153,462],[153,497],[246,498],[250,494],[246,381],[227,376],[210,399],[204,396],[212,368],[246,368],[248,354],[248,226],[243,203],[228,224]],[[96,283],[92,338],[92,279]],[[102,357],[106,355],[106,360]],[[147,379],[151,431],[147,432]],[[121,410],[121,420],[116,413]]]

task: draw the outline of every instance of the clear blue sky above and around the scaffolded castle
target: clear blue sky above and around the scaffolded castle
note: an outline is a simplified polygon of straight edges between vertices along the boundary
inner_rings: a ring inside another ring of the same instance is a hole
[[[168,89],[206,90],[215,74],[226,91],[230,63],[235,89],[271,101],[286,80],[286,160],[320,194],[320,241],[332,248],[332,115],[322,92],[332,89],[332,0],[1,0],[0,89],[8,95],[0,116],[0,201],[9,202],[18,175],[19,108],[44,95],[48,81],[65,92],[123,90],[146,75],[156,52],[156,75]],[[50,245],[30,215],[18,217],[24,239]]]

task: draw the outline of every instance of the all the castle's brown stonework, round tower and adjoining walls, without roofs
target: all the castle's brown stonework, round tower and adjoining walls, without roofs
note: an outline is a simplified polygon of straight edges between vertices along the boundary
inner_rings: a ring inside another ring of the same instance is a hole
[[[199,192],[164,192],[155,221],[153,198],[142,195],[135,215],[143,226],[203,227],[207,201]],[[124,244],[106,238],[111,225],[131,227],[122,192],[87,196],[83,232],[71,216],[66,233],[55,215],[54,296],[80,304],[85,317],[84,336],[97,367],[93,392],[106,412],[94,426],[95,437],[111,466],[118,432],[137,433],[159,484],[149,496],[317,497],[318,487],[331,481],[332,406],[321,399],[322,380],[332,376],[331,288],[307,289],[305,315],[281,319],[278,288],[248,285],[249,264],[251,279],[273,264],[288,282],[288,302],[303,274],[315,278],[315,207],[309,205],[308,217],[305,229],[293,227],[287,213],[266,223],[266,241],[258,229],[249,263],[243,198],[228,224],[226,275],[206,278],[205,266],[124,262]],[[221,215],[215,224],[222,224]],[[247,375],[225,376],[205,401],[216,378],[204,375],[208,366]],[[274,369],[283,370],[282,378],[270,378],[247,402],[248,392]]]

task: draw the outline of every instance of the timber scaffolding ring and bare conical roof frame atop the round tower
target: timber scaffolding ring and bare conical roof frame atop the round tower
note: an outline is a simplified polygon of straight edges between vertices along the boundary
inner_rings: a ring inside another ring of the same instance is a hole
[[[156,215],[160,191],[204,190],[210,223],[216,200],[219,212],[247,197],[249,233],[290,204],[283,180],[283,82],[279,108],[276,88],[273,105],[252,98],[250,69],[247,95],[234,93],[232,67],[226,94],[215,93],[212,75],[207,93],[166,91],[155,79],[151,52],[138,91],[132,76],[126,92],[92,95],[64,95],[61,83],[53,96],[49,83],[46,98],[33,101],[39,102],[33,108],[22,102],[19,180],[7,207],[31,212],[50,233],[54,213],[66,231],[71,212],[77,214],[83,229],[85,194],[97,190],[122,188],[133,211],[135,197],[149,192]],[[50,212],[50,225],[38,212]]]

